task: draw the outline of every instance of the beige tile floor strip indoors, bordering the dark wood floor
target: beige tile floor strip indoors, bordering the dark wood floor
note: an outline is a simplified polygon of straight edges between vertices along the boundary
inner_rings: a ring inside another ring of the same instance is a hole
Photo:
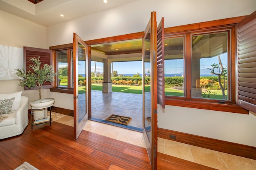
[[[60,117],[60,119],[56,120],[56,122],[73,126],[73,117],[64,115]],[[140,147],[145,147],[143,135],[138,131],[132,131],[90,120],[88,120],[86,123],[84,130],[131,143]],[[158,138],[158,152],[219,170],[256,170],[256,160],[195,147],[162,138]]]

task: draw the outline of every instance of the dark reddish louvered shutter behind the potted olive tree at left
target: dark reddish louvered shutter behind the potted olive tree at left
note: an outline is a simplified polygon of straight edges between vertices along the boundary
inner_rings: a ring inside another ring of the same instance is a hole
[[[31,61],[29,61],[31,58],[37,58],[40,56],[40,61],[42,66],[44,64],[52,65],[52,50],[49,49],[39,49],[39,48],[33,48],[33,47],[23,47],[24,51],[24,69],[26,72],[29,70],[32,71],[30,68],[30,65],[33,64]],[[42,89],[46,88],[52,88],[52,82],[46,82],[43,84]],[[37,88],[29,89],[27,87],[24,87],[24,90],[33,90]]]

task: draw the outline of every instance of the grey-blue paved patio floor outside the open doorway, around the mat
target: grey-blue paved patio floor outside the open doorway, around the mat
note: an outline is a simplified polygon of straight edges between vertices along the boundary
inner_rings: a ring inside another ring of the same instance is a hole
[[[92,118],[105,121],[112,114],[132,117],[126,127],[142,132],[142,94],[92,90]]]

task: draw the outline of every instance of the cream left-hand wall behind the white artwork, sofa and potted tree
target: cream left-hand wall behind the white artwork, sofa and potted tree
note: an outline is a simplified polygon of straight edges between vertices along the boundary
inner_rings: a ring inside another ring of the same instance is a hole
[[[0,10],[0,25],[1,45],[18,48],[23,48],[23,46],[46,48],[46,27],[2,10]],[[23,91],[23,88],[18,86],[18,83],[18,80],[0,80],[0,93]],[[42,97],[46,97],[45,92],[44,90]],[[39,98],[37,90],[27,90],[22,95],[27,96],[29,101]]]

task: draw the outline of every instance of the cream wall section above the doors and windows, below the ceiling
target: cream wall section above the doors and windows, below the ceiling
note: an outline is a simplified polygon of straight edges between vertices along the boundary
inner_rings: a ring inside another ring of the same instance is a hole
[[[72,43],[73,32],[84,41],[144,31],[150,12],[165,27],[244,16],[255,0],[138,0],[118,8],[47,27],[47,46]]]

